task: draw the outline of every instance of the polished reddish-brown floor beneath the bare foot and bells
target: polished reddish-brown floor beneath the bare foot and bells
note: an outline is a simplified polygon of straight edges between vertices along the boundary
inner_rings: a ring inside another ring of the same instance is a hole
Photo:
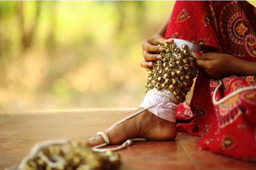
[[[0,114],[0,170],[18,165],[37,142],[46,139],[85,140],[106,129],[127,111],[37,112]],[[136,141],[119,151],[120,170],[255,170],[256,164],[208,151],[199,137],[178,133],[174,141]]]

